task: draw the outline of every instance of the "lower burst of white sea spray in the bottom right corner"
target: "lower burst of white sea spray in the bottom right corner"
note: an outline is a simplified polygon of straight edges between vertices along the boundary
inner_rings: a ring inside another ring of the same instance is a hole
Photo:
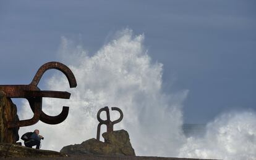
[[[179,156],[208,159],[256,159],[256,114],[226,113],[207,124],[205,137],[187,138]]]

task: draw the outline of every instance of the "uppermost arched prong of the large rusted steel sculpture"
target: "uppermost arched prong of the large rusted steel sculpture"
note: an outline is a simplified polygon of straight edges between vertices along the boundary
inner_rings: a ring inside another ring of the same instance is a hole
[[[64,73],[67,77],[67,80],[69,81],[70,88],[77,87],[77,81],[75,80],[75,76],[72,71],[66,65],[59,62],[48,62],[45,63],[45,65],[42,65],[36,72],[35,77],[33,78],[30,85],[37,86],[45,71],[51,69],[56,69]]]

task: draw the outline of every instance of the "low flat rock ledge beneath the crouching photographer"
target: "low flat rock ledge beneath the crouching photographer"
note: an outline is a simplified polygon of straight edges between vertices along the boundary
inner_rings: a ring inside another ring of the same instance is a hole
[[[57,151],[36,150],[25,146],[0,143],[0,157],[4,158],[56,158],[67,156]]]

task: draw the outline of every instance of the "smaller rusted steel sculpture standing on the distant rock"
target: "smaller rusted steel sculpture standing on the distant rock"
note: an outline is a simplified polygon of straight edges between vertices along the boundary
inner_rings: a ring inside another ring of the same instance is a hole
[[[108,106],[105,106],[104,108],[101,108],[98,113],[97,113],[97,119],[98,121],[100,122],[98,124],[98,127],[97,127],[97,137],[96,139],[97,140],[100,140],[100,127],[102,124],[105,124],[106,127],[107,127],[107,132],[113,132],[113,126],[114,124],[122,121],[122,118],[124,117],[124,114],[122,114],[122,111],[120,110],[120,108],[117,108],[117,107],[111,107],[111,110],[113,111],[118,111],[120,113],[120,117],[115,120],[115,121],[111,121],[110,120],[110,116],[109,116],[109,109],[108,109]],[[106,111],[106,116],[107,116],[107,119],[106,120],[103,120],[100,118],[100,113],[103,112],[103,111]]]

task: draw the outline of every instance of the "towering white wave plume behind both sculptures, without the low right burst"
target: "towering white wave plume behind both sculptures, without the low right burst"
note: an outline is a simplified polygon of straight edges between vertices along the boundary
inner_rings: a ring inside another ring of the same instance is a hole
[[[72,97],[45,98],[43,110],[54,115],[61,111],[61,104],[69,105],[69,116],[62,124],[49,126],[39,122],[20,132],[38,128],[46,137],[43,148],[58,151],[62,146],[96,137],[97,111],[104,106],[117,106],[124,119],[114,129],[128,130],[137,154],[177,154],[177,146],[185,140],[181,132],[181,103],[187,90],[163,94],[163,65],[151,62],[143,49],[143,35],[133,36],[132,31],[124,30],[92,57],[81,46],[72,46],[72,42],[62,38],[59,55],[74,72],[78,86],[69,89],[66,77],[54,75],[48,81],[48,89],[68,90]],[[29,116],[31,113],[25,111],[20,114],[22,119]],[[111,115],[113,119],[118,116]]]

